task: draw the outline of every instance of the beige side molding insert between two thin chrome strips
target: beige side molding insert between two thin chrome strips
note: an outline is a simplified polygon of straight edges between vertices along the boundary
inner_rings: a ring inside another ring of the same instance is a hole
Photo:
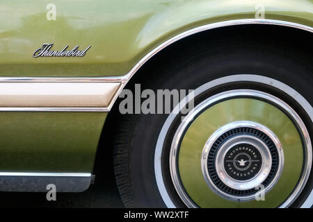
[[[0,83],[0,110],[107,108],[120,83]]]

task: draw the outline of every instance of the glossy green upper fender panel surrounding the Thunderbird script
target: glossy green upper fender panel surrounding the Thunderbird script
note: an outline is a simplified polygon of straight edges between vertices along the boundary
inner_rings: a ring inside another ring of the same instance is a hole
[[[56,21],[48,21],[48,3]],[[266,19],[313,24],[312,0],[1,0],[0,76],[117,76],[170,37],[230,19],[254,19],[263,3]],[[33,58],[43,43],[81,49],[83,58]]]

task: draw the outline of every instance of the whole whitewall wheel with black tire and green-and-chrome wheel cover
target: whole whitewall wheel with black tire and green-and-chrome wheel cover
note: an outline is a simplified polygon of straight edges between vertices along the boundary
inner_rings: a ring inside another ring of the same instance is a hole
[[[195,89],[194,108],[120,115],[115,176],[127,207],[312,205],[310,65],[244,44],[161,70],[143,87]]]

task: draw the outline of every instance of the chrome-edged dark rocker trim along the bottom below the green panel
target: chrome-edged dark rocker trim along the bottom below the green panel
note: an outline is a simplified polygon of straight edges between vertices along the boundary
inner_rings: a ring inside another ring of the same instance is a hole
[[[57,192],[81,192],[90,182],[90,173],[0,172],[0,191],[47,192],[52,184]]]

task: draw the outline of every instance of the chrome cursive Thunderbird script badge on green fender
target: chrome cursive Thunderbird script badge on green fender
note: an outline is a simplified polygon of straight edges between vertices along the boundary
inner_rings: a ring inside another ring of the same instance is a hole
[[[66,50],[68,46],[65,46],[61,51],[50,51],[54,44],[53,43],[45,43],[42,44],[42,47],[36,49],[33,53],[33,58],[38,57],[83,57],[86,54],[86,51],[90,49],[91,46],[88,46],[84,51],[79,51],[79,46],[75,46],[72,50]]]

